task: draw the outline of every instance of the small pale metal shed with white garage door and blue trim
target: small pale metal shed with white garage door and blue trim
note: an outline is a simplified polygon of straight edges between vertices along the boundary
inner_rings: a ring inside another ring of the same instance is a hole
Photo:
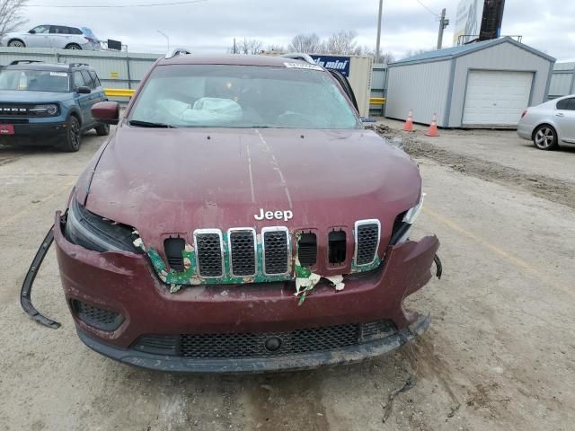
[[[385,116],[440,128],[514,128],[547,100],[555,59],[509,37],[439,49],[388,66]]]

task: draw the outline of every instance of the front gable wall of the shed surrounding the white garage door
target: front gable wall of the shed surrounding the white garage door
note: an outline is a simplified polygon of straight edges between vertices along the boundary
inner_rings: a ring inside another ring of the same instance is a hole
[[[462,125],[465,87],[470,69],[535,72],[530,98],[530,105],[533,106],[545,101],[545,90],[551,66],[550,60],[535,56],[526,49],[518,48],[511,43],[501,43],[458,57],[456,59],[449,127],[458,128]]]

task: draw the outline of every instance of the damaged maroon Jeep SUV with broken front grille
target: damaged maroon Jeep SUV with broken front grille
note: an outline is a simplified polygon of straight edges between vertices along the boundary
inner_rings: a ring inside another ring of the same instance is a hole
[[[346,79],[286,57],[159,59],[54,238],[82,341],[123,363],[242,373],[359,361],[429,326],[403,300],[418,167],[363,128]]]

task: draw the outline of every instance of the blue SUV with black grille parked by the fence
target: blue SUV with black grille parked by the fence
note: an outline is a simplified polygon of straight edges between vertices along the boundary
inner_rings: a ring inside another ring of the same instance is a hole
[[[13,61],[0,68],[0,144],[78,151],[86,130],[108,135],[110,125],[93,119],[91,111],[105,100],[98,75],[88,65]]]

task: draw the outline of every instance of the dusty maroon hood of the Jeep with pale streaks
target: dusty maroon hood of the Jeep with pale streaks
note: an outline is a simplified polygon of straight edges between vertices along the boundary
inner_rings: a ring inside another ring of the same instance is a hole
[[[76,198],[134,226],[155,248],[163,234],[199,228],[325,231],[370,218],[380,219],[385,241],[395,217],[420,197],[415,163],[368,130],[123,125],[91,169]],[[257,221],[261,208],[291,210],[293,218]]]

